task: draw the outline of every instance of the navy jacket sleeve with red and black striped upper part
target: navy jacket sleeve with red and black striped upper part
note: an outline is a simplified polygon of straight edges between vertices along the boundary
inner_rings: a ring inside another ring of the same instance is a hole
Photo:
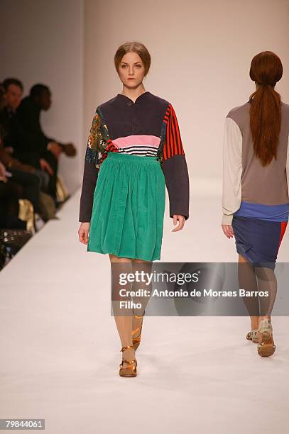
[[[174,214],[189,218],[190,186],[185,152],[177,116],[171,104],[165,113],[165,142],[163,144],[163,173],[170,200],[170,217]]]

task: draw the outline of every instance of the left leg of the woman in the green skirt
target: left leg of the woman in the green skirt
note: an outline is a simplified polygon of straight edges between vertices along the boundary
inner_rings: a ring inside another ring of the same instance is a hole
[[[131,301],[131,298],[120,298],[119,294],[119,274],[121,272],[131,272],[131,259],[126,257],[117,257],[115,255],[109,255],[109,260],[111,262],[111,272],[112,272],[112,305],[114,308],[114,320],[116,322],[116,328],[119,332],[119,338],[121,340],[121,346],[126,347],[127,345],[133,345],[132,342],[132,311],[131,309],[126,309],[126,315],[119,315],[119,300],[123,301]],[[116,265],[114,267],[114,265]],[[126,289],[127,291],[131,291],[131,283],[128,282],[125,285],[121,286],[121,289]],[[122,352],[123,358],[126,360],[133,360],[135,358],[134,349],[126,348]],[[129,365],[124,362],[123,367],[129,367]]]

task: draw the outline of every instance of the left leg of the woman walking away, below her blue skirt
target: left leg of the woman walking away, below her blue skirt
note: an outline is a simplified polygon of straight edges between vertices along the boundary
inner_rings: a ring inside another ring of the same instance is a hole
[[[254,267],[239,254],[238,267],[239,287],[246,291],[258,291],[257,279]],[[259,303],[258,296],[243,297],[244,304],[251,318],[251,330],[258,328]]]

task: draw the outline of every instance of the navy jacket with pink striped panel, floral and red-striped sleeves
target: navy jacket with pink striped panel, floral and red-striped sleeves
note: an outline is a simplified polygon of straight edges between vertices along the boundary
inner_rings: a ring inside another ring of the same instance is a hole
[[[172,104],[146,91],[134,103],[117,94],[97,107],[84,160],[81,222],[90,221],[98,170],[108,152],[156,156],[165,175],[170,217],[178,214],[189,218],[189,176]]]

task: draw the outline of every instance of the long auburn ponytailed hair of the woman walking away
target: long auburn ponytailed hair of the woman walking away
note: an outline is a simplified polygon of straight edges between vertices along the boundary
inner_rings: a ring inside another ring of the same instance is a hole
[[[281,126],[281,98],[274,89],[283,74],[280,58],[272,51],[263,51],[251,61],[250,77],[258,85],[250,96],[250,127],[253,150],[262,166],[277,157]]]

